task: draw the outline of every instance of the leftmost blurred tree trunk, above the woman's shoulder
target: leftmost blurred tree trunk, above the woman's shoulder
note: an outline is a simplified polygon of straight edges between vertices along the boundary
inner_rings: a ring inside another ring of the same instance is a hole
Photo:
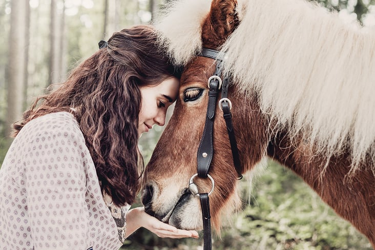
[[[23,113],[26,4],[29,4],[29,1],[13,0],[11,2],[6,135],[11,132],[11,124],[20,120]]]

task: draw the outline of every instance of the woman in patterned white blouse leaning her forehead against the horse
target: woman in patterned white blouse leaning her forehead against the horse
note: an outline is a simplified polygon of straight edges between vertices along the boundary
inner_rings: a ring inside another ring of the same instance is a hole
[[[149,26],[116,32],[14,125],[0,170],[1,249],[118,249],[143,226],[194,237],[129,210],[141,186],[141,133],[162,126],[178,72]]]

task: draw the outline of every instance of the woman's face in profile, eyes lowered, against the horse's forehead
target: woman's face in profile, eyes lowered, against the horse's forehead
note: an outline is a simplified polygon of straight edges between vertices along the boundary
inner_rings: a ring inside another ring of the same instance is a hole
[[[154,124],[163,126],[166,110],[176,100],[179,80],[168,78],[156,86],[142,86],[141,110],[138,116],[138,136],[149,132]]]

